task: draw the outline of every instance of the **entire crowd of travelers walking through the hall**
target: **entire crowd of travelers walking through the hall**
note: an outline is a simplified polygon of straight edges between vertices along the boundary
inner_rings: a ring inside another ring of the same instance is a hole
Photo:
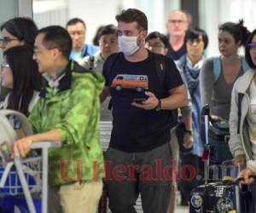
[[[230,126],[233,163],[252,185],[256,175],[256,30],[243,20],[218,26],[218,57],[206,55],[207,32],[188,12],[168,14],[166,32],[148,33],[143,11],[125,9],[117,26],[85,43],[84,20],[38,29],[16,17],[0,27],[0,109],[22,112],[34,135],[19,134],[14,155],[54,141],[49,152],[49,213],[96,212],[103,190],[114,213],[175,212],[201,184],[202,107]],[[212,26],[214,27],[214,26]],[[244,49],[245,55],[239,55]],[[254,94],[254,96],[253,96]],[[20,124],[9,118],[18,132]],[[100,122],[113,125],[102,152]],[[184,167],[191,165],[195,176]]]

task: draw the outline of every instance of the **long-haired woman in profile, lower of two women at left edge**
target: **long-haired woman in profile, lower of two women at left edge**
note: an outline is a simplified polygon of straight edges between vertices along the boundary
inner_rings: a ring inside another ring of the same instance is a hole
[[[38,99],[41,76],[33,51],[28,46],[16,46],[3,52],[2,86],[11,89],[3,107],[28,115]]]

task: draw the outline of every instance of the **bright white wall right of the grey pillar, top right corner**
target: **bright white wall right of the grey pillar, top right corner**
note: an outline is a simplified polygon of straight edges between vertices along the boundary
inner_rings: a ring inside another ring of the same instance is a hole
[[[200,25],[207,31],[210,40],[207,55],[219,55],[218,25],[243,19],[250,31],[256,28],[255,8],[255,0],[200,0]]]

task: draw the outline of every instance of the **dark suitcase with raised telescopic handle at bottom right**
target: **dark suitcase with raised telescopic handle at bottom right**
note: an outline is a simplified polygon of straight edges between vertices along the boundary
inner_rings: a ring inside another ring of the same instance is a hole
[[[210,158],[214,152],[208,140],[209,107],[203,109],[205,118],[206,150],[203,154],[205,164],[205,184],[196,187],[190,196],[189,213],[253,213],[253,198],[247,185],[239,186],[236,182],[220,181],[224,175],[237,175],[240,168],[219,164],[213,165],[215,170],[210,178]],[[229,161],[231,163],[231,161]],[[225,164],[225,163],[224,163]],[[235,169],[234,169],[235,168]],[[215,174],[214,174],[215,173]]]

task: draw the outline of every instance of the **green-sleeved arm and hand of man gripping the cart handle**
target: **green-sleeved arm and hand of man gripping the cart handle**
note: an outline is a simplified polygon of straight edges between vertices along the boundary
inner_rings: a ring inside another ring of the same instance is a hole
[[[30,151],[32,142],[38,141],[55,141],[67,144],[79,143],[82,141],[84,130],[89,125],[89,116],[93,109],[96,96],[96,85],[91,78],[83,78],[83,74],[78,74],[73,90],[69,95],[72,104],[64,118],[59,124],[55,124],[52,130],[36,135],[27,136],[23,139],[15,141],[14,153],[20,154],[22,157]],[[32,124],[35,123],[37,115],[32,112]],[[38,122],[40,123],[40,121]],[[33,125],[35,127],[35,125]],[[38,124],[38,131],[40,124]],[[38,132],[37,131],[37,132]]]

